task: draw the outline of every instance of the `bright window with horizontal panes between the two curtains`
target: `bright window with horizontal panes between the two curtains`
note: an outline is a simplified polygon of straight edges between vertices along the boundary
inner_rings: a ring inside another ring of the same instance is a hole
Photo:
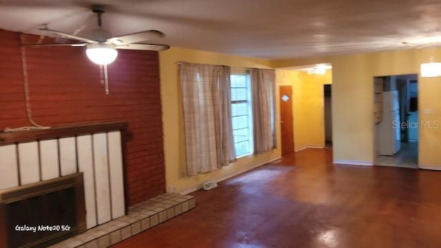
[[[236,158],[253,154],[253,117],[249,74],[232,74],[232,127]]]

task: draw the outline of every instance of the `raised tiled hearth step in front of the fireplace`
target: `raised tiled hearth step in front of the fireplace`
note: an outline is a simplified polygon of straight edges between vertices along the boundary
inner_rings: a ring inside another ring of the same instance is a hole
[[[194,196],[166,193],[129,208],[126,216],[89,229],[51,248],[95,248],[111,245],[196,207]]]

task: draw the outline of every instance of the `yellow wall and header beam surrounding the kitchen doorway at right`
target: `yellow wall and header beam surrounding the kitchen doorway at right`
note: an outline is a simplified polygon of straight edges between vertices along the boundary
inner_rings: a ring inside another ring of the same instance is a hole
[[[317,59],[271,61],[274,68],[331,63],[334,160],[374,161],[373,76],[418,74],[420,63],[441,61],[441,49],[398,50]],[[441,78],[418,78],[420,121],[441,120]],[[432,114],[424,114],[424,109]],[[441,168],[441,128],[420,128],[418,158],[424,167]]]

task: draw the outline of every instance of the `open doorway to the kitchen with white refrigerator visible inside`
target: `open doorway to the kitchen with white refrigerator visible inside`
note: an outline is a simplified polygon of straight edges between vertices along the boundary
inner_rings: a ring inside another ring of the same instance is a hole
[[[418,75],[374,79],[377,108],[376,165],[418,168]],[[379,97],[381,96],[381,97]]]

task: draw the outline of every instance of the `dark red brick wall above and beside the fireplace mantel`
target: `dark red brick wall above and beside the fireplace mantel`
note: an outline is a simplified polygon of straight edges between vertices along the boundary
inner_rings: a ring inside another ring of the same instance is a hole
[[[28,36],[29,42],[38,37]],[[0,130],[30,125],[25,113],[19,34],[0,30]],[[129,123],[130,205],[165,191],[158,53],[119,50],[108,66],[110,95],[84,48],[26,48],[30,103],[40,125]]]

